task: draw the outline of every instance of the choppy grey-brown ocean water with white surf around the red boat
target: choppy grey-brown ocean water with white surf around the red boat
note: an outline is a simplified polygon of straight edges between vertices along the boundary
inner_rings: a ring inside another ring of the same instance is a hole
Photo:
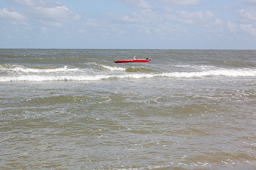
[[[0,169],[256,169],[255,59],[0,49]]]

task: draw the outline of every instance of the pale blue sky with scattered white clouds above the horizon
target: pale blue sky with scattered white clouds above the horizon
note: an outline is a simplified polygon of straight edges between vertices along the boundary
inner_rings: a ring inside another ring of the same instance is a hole
[[[256,49],[256,0],[1,0],[0,48]]]

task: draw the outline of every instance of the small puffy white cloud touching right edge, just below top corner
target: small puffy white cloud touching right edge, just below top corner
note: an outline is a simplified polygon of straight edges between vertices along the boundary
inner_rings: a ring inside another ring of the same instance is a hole
[[[256,23],[256,10],[255,9],[246,9],[246,10],[239,10],[237,12],[238,22],[250,24]]]

